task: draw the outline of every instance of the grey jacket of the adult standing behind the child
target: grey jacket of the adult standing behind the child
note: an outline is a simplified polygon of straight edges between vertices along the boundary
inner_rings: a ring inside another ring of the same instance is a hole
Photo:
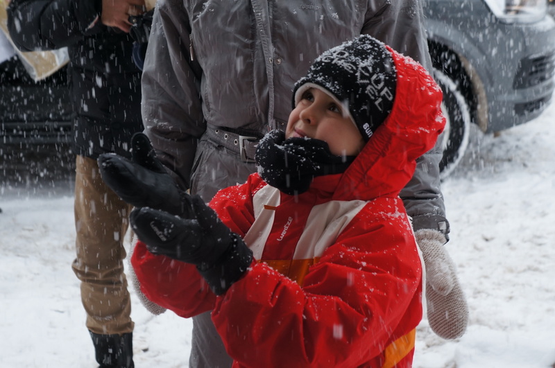
[[[323,51],[361,34],[430,70],[423,26],[420,0],[157,1],[142,78],[145,132],[180,186],[208,201],[254,165],[231,159],[207,127],[254,137],[284,129],[294,82]],[[420,158],[401,193],[418,228],[445,221],[440,160],[439,146]]]

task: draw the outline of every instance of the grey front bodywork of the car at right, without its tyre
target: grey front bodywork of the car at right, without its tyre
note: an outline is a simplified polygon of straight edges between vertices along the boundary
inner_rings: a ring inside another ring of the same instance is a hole
[[[425,12],[432,52],[436,60],[438,48],[444,53],[438,60],[444,71],[450,69],[445,64],[454,62],[441,61],[445,53],[456,55],[462,69],[451,73],[452,79],[462,84],[461,90],[470,89],[463,96],[482,130],[511,128],[545,109],[554,89],[553,19],[504,23],[482,0],[428,1]]]

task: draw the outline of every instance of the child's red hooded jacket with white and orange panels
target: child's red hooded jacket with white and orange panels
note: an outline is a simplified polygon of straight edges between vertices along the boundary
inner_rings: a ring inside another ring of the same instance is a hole
[[[234,367],[411,366],[422,269],[398,194],[445,119],[432,78],[394,60],[393,110],[345,173],[316,177],[298,196],[255,173],[210,202],[257,260],[224,295],[194,265],[137,244],[144,294],[182,317],[213,310]]]

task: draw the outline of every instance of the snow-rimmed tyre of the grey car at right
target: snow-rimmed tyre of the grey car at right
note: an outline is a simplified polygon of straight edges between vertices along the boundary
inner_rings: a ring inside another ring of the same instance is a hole
[[[445,116],[445,131],[441,134],[443,157],[439,163],[441,178],[449,176],[463,158],[470,133],[470,111],[455,82],[438,69],[434,79],[443,91],[441,110]]]

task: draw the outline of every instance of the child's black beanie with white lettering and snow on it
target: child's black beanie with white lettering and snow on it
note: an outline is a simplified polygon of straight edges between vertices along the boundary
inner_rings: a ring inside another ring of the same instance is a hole
[[[293,108],[309,88],[323,89],[347,106],[352,121],[368,141],[393,107],[395,64],[385,44],[361,35],[325,51],[296,82]]]

